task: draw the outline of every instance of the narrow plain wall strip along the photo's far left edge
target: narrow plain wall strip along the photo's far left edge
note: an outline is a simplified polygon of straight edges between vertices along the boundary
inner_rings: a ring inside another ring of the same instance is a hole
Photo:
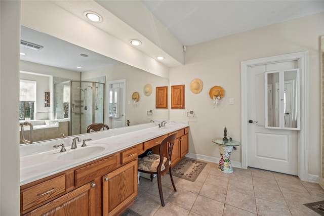
[[[0,214],[20,215],[20,1],[0,1]],[[15,129],[16,128],[16,129]]]

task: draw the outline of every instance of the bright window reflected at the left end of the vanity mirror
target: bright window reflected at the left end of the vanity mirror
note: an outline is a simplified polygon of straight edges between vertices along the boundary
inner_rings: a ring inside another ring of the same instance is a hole
[[[19,120],[35,119],[36,81],[20,79]]]

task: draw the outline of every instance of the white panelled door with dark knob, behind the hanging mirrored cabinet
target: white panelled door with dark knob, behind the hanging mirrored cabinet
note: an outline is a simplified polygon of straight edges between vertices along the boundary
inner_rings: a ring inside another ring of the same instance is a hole
[[[298,175],[298,131],[265,128],[264,72],[296,68],[296,61],[248,67],[248,166]],[[273,94],[273,93],[271,93]]]

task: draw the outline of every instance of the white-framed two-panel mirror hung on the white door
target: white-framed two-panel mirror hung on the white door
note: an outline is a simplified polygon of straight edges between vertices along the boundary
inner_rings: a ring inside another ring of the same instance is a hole
[[[300,129],[299,69],[265,73],[265,127]]]

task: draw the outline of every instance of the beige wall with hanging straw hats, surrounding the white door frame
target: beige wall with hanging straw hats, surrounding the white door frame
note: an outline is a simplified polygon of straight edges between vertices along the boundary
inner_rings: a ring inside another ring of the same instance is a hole
[[[196,121],[190,121],[189,152],[219,157],[213,138],[228,136],[241,140],[240,62],[300,51],[309,52],[309,174],[320,175],[320,69],[319,36],[324,34],[324,13],[281,24],[239,33],[202,44],[189,46],[185,65],[170,69],[171,85],[185,84],[185,112],[193,110]],[[194,78],[203,80],[204,89],[195,95],[190,91]],[[209,90],[220,85],[225,96],[212,109]],[[234,105],[229,105],[234,98]],[[170,111],[170,119],[187,119],[179,110]],[[231,160],[241,161],[240,148]]]

